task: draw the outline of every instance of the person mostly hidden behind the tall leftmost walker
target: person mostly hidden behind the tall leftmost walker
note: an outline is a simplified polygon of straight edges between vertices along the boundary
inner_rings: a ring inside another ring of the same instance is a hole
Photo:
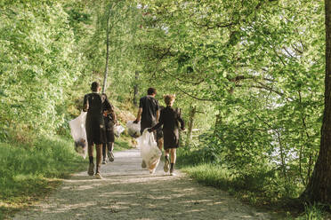
[[[102,94],[102,98],[108,100],[109,102],[109,99],[107,98],[106,94]],[[110,102],[109,105],[110,105],[110,111],[108,112],[108,114],[103,115],[103,120],[105,122],[105,128],[106,128],[106,142],[102,144],[102,156],[103,156],[102,164],[107,163],[106,151],[108,155],[108,160],[111,162],[114,161],[114,153],[113,153],[114,142],[115,142],[114,125],[117,124],[117,116],[114,111],[114,106],[112,106]],[[103,110],[106,111],[107,109],[103,109]]]

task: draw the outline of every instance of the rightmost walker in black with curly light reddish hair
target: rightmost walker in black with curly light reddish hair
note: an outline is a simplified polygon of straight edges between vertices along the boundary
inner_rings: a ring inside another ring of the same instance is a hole
[[[181,115],[173,109],[175,95],[165,95],[165,109],[161,111],[157,125],[149,129],[149,132],[159,129],[163,125],[164,149],[165,149],[165,166],[164,171],[169,171],[174,176],[174,164],[176,162],[176,149],[179,147],[179,123],[181,130],[185,130],[184,121]],[[169,153],[171,161],[169,161]]]

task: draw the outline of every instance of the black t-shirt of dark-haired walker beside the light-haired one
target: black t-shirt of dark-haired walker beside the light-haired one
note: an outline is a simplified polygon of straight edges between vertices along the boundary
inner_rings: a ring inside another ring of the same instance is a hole
[[[157,99],[151,96],[142,97],[139,101],[139,107],[142,108],[141,126],[151,127],[157,123],[157,110],[159,109]]]

